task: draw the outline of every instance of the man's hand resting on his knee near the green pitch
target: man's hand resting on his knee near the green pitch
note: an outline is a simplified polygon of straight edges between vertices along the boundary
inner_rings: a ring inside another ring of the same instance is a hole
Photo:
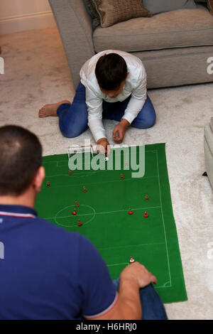
[[[144,288],[151,283],[157,284],[157,279],[143,264],[134,262],[126,266],[120,275],[121,280],[137,281],[139,288]]]

